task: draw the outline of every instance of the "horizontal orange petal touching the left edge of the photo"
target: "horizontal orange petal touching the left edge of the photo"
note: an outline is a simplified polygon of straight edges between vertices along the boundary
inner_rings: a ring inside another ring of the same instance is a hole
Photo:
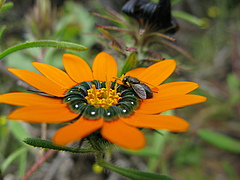
[[[0,95],[0,102],[16,106],[61,104],[62,99],[30,93],[7,93]]]

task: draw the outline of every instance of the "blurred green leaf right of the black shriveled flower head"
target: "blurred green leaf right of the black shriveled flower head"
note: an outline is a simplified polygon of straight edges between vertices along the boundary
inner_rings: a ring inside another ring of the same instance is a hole
[[[177,18],[181,18],[183,20],[186,20],[186,21],[188,21],[188,22],[190,22],[190,23],[192,23],[196,26],[201,27],[201,26],[204,25],[204,22],[201,19],[199,19],[196,16],[193,16],[191,14],[185,13],[183,11],[176,11],[176,10],[172,11],[172,15],[177,17]]]

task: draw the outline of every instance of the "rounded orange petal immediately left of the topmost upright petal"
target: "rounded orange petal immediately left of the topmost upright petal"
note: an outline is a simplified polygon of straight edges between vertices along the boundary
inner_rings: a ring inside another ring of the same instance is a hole
[[[81,57],[66,53],[63,55],[63,64],[67,73],[75,82],[93,81],[92,70]]]

